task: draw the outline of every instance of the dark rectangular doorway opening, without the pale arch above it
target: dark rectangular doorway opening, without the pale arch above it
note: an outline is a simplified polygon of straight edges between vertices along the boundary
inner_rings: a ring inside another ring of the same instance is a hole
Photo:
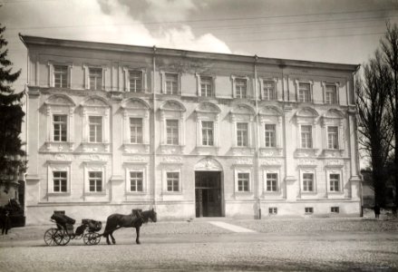
[[[196,217],[221,217],[222,193],[220,171],[195,171]]]

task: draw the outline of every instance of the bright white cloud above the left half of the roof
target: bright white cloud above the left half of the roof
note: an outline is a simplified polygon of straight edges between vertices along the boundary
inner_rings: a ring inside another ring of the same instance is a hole
[[[166,20],[167,16],[172,17],[174,21],[183,19],[189,15],[190,10],[196,8],[190,0],[147,1],[147,12],[162,20]],[[9,8],[10,13],[7,14],[8,24],[15,25],[13,28],[22,34],[113,44],[230,52],[227,44],[216,36],[195,36],[188,25],[174,24],[169,27],[165,24],[155,24],[155,29],[148,28],[146,24],[132,17],[131,7],[121,1],[70,0],[44,1],[41,5],[25,4],[18,6],[18,10]],[[0,10],[0,16],[1,14]],[[18,29],[17,25],[21,28]]]

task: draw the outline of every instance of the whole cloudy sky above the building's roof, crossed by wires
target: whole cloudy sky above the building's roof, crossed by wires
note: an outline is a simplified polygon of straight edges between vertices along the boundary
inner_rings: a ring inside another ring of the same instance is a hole
[[[365,63],[398,0],[0,0],[9,59],[18,33],[329,63]]]

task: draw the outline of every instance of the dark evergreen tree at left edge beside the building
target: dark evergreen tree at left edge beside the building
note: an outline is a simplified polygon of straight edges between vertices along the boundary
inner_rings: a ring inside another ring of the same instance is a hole
[[[22,98],[24,92],[15,93],[12,83],[18,79],[21,70],[13,73],[7,60],[8,44],[4,37],[5,26],[0,24],[0,185],[5,192],[16,182],[26,167],[25,152],[19,138],[24,118]]]

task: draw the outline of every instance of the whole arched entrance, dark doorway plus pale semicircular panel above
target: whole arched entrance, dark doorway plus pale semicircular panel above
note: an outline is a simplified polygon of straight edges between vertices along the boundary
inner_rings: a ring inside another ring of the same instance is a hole
[[[223,216],[222,168],[217,160],[206,158],[195,166],[196,217]]]

